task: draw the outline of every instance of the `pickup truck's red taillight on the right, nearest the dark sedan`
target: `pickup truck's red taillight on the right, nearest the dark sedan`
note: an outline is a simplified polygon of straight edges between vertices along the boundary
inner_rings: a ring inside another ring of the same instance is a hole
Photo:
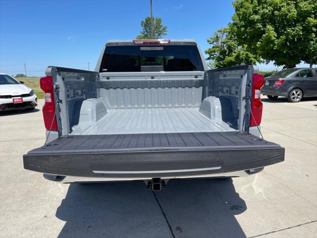
[[[250,115],[250,127],[261,123],[263,104],[261,102],[261,88],[264,85],[264,76],[261,74],[252,75],[252,101]]]

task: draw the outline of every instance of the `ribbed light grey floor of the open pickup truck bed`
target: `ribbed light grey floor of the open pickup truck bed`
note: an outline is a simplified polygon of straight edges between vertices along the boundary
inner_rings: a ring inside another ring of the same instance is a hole
[[[73,126],[72,135],[236,131],[221,119],[210,119],[199,107],[111,109],[104,118]]]

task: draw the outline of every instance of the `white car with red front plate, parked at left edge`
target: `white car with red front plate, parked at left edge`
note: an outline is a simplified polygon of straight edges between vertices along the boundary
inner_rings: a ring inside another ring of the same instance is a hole
[[[37,97],[32,88],[12,76],[0,73],[0,112],[14,109],[33,110]]]

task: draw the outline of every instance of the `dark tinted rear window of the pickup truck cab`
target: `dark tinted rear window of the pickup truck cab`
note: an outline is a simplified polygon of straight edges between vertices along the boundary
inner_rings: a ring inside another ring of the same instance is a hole
[[[100,72],[204,71],[197,46],[108,46]],[[156,69],[155,69],[156,68]]]

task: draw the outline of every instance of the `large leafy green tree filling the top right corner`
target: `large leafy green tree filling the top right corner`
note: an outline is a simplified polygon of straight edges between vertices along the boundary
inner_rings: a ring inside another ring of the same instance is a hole
[[[264,62],[317,63],[317,0],[235,0],[229,27],[239,45]]]

